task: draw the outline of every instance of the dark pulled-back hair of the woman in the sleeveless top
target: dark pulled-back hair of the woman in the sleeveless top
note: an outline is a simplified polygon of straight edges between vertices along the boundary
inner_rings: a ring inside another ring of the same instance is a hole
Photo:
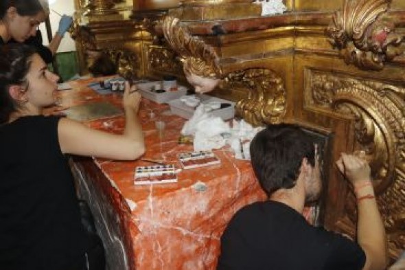
[[[34,48],[23,44],[0,47],[0,124],[8,122],[10,114],[19,107],[8,89],[10,85],[27,84],[26,76],[35,52]]]

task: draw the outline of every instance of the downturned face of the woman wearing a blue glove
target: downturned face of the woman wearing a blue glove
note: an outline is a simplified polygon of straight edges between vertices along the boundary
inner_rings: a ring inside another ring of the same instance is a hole
[[[10,10],[14,9],[14,10]],[[43,21],[45,12],[38,12],[34,16],[21,16],[19,15],[15,8],[10,8],[8,12],[8,32],[10,37],[14,41],[23,43],[30,38],[30,36],[35,36],[36,28]]]

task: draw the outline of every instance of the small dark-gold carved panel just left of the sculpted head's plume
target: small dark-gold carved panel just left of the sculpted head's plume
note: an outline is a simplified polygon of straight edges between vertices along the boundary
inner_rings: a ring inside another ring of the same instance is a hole
[[[176,54],[166,47],[151,45],[148,47],[149,69],[178,74],[182,72],[181,63]]]

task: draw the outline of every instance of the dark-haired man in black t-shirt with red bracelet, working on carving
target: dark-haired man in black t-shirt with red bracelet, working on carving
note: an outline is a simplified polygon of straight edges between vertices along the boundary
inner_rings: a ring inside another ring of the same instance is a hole
[[[342,153],[340,172],[358,205],[357,243],[314,227],[304,205],[321,193],[317,147],[292,124],[274,124],[251,142],[251,164],[268,201],[242,207],[221,237],[218,269],[385,269],[387,243],[367,161]]]

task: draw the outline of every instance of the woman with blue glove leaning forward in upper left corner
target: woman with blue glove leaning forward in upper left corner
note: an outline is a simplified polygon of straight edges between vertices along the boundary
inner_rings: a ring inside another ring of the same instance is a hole
[[[71,16],[63,15],[58,30],[48,47],[42,43],[37,30],[49,16],[45,0],[1,0],[0,2],[0,45],[5,43],[25,43],[34,46],[46,63],[51,63],[63,36],[73,21]]]

